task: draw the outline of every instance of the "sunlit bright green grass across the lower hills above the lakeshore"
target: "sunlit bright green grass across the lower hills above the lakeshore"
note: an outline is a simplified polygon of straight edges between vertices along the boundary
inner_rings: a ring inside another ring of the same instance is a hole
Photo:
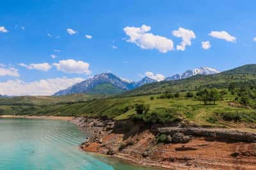
[[[230,92],[224,96],[223,101],[218,101],[214,105],[204,105],[193,97],[184,97],[185,94],[186,92],[180,92],[180,97],[171,99],[157,99],[160,95],[100,99],[89,96],[13,97],[0,100],[0,115],[88,116],[124,120],[136,114],[135,104],[148,104],[149,112],[173,110],[172,114],[175,114],[176,118],[198,125],[229,126],[233,123],[255,124],[256,122],[255,110],[228,104],[234,101],[234,96]],[[74,102],[68,102],[70,99]],[[166,113],[164,113],[165,118]]]

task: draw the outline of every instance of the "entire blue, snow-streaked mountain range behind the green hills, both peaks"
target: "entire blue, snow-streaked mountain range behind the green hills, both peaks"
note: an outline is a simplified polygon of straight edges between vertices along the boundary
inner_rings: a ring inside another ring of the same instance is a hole
[[[198,74],[216,74],[220,73],[217,69],[211,67],[200,67],[196,69],[189,69],[182,74],[175,74],[166,78],[164,81],[180,80],[189,78]],[[70,94],[119,94],[127,90],[133,90],[148,83],[154,83],[156,80],[149,78],[148,76],[142,78],[140,81],[129,81],[124,78],[120,78],[112,73],[101,73],[93,76],[80,83],[72,85],[67,89],[60,90],[53,94],[53,96],[63,96]]]

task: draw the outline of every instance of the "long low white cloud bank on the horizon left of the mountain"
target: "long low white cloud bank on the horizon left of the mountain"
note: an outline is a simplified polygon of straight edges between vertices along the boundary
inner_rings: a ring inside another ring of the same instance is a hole
[[[50,96],[54,92],[83,81],[83,78],[49,78],[45,80],[24,82],[8,80],[0,82],[0,94],[8,96]]]

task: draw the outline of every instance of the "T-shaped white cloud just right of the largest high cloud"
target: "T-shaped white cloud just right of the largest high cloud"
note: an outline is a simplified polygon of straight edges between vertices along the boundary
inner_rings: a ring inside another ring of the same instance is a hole
[[[191,46],[191,39],[195,39],[195,33],[189,29],[184,29],[182,27],[179,27],[177,31],[172,31],[173,36],[182,38],[182,41],[180,45],[177,45],[177,50],[186,50],[186,46]]]

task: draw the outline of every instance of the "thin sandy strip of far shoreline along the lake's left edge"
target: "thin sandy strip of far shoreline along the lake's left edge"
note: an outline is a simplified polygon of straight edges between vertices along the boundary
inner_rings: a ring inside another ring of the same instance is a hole
[[[56,116],[28,116],[28,115],[0,115],[0,118],[35,118],[35,119],[46,119],[46,120],[63,120],[70,121],[74,117],[56,117]]]

